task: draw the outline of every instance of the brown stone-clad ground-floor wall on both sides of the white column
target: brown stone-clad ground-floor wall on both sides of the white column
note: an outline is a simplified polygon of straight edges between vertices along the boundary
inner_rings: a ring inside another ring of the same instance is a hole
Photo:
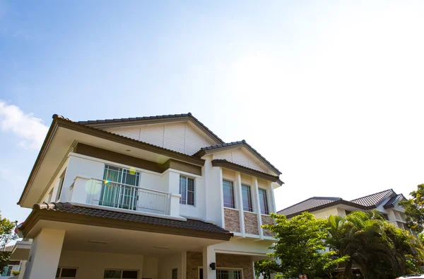
[[[199,278],[199,266],[203,266],[203,256],[199,252],[187,252],[187,279]],[[243,279],[253,279],[253,261],[250,256],[216,254],[217,268],[242,268]]]

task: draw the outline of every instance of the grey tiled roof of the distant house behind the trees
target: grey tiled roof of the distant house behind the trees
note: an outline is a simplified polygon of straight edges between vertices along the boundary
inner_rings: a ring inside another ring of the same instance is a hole
[[[290,207],[287,207],[283,210],[278,211],[278,214],[285,215],[287,217],[293,217],[300,214],[301,212],[313,212],[316,210],[321,210],[326,207],[331,207],[333,205],[343,204],[350,205],[352,207],[357,207],[362,210],[371,210],[377,208],[385,199],[393,196],[385,205],[384,208],[394,207],[399,203],[400,200],[406,199],[404,195],[397,195],[394,193],[393,189],[384,190],[379,193],[374,193],[371,195],[366,195],[365,197],[357,198],[355,200],[343,200],[342,198],[332,198],[332,197],[313,197],[303,200],[300,203],[296,203]]]

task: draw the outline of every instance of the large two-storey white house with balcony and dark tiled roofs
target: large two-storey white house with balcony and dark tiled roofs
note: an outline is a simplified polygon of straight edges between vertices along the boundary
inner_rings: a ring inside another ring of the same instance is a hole
[[[18,201],[24,278],[252,279],[281,172],[191,113],[53,115]]]

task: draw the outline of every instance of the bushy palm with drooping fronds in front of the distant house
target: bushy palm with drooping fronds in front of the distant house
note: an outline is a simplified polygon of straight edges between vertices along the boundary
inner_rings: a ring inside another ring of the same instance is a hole
[[[404,229],[389,224],[378,212],[352,212],[330,216],[326,244],[347,256],[343,278],[352,278],[353,267],[365,278],[395,278],[414,273],[423,263],[423,246]]]

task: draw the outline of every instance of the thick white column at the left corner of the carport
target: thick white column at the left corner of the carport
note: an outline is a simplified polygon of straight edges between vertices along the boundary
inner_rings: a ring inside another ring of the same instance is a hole
[[[24,279],[53,279],[64,243],[63,229],[42,229],[31,245]]]

